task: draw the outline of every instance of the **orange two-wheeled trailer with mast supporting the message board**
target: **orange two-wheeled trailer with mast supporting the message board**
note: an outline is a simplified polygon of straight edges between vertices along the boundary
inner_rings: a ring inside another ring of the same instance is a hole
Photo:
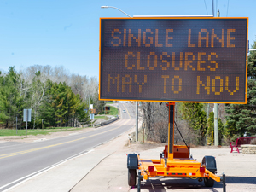
[[[218,177],[216,161],[213,156],[205,156],[198,162],[190,156],[189,146],[174,145],[174,102],[166,104],[169,108],[168,145],[165,146],[159,160],[142,159],[139,154],[128,154],[128,184],[140,191],[141,181],[150,177],[198,177],[206,187],[212,187],[214,181],[223,182],[225,192],[225,175]]]

